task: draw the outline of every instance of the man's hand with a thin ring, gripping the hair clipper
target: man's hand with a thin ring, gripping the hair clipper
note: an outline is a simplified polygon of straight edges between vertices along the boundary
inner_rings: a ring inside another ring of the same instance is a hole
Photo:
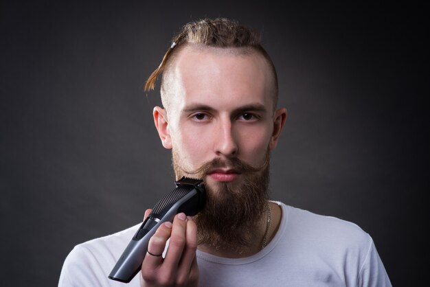
[[[150,214],[145,212],[145,218]],[[165,258],[161,256],[170,238]],[[185,214],[174,216],[173,224],[164,222],[149,240],[142,263],[141,286],[198,286],[196,260],[197,227]],[[156,255],[156,256],[154,256]]]

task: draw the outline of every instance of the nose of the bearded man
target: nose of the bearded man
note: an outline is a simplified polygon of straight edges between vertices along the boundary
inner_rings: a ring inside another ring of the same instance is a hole
[[[230,119],[223,119],[218,123],[215,140],[215,152],[218,156],[231,157],[238,152],[234,128]]]

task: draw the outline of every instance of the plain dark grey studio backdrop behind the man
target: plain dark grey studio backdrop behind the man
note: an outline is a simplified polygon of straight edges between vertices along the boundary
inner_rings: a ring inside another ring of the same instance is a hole
[[[74,245],[172,190],[159,93],[143,87],[205,16],[260,30],[278,69],[289,115],[271,197],[357,223],[394,286],[421,286],[427,29],[408,3],[2,2],[0,286],[56,286]]]

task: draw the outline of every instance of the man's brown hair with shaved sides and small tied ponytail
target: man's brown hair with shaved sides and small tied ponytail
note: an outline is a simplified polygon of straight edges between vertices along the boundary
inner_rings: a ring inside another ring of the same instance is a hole
[[[155,88],[155,82],[161,73],[163,79],[161,84],[161,97],[163,100],[163,82],[164,75],[168,67],[171,65],[174,56],[179,54],[179,51],[187,44],[206,45],[209,47],[219,47],[225,49],[240,48],[243,54],[248,54],[250,51],[256,51],[262,55],[273,73],[273,98],[274,108],[278,102],[278,76],[275,65],[262,47],[260,34],[254,30],[250,30],[244,25],[240,25],[238,21],[216,18],[216,19],[201,19],[183,25],[179,33],[172,38],[172,45],[163,56],[163,60],[155,71],[151,73],[146,80],[144,91],[150,91]],[[164,101],[163,101],[164,102]]]

